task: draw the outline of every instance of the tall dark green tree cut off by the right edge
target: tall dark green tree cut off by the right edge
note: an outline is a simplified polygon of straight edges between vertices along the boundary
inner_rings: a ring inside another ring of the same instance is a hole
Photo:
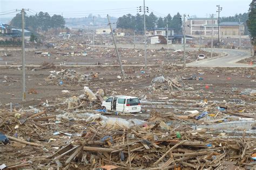
[[[252,44],[256,45],[256,0],[252,0],[250,4],[247,26],[250,32]]]

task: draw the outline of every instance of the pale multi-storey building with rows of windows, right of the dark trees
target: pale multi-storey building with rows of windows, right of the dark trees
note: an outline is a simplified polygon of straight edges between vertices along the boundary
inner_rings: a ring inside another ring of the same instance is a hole
[[[211,36],[212,27],[213,35],[218,35],[217,18],[190,18],[185,22],[185,32],[188,35]]]

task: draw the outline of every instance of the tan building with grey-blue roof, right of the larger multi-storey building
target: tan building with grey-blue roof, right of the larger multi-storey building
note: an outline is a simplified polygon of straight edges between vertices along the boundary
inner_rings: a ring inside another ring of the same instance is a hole
[[[241,36],[245,34],[244,23],[239,22],[223,22],[220,23],[220,36],[239,36],[239,28]]]

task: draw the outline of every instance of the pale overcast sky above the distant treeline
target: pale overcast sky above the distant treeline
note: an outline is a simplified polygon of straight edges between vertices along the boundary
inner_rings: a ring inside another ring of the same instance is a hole
[[[235,13],[248,12],[252,0],[145,0],[149,7],[158,17],[164,17],[168,13],[171,16],[179,12],[181,15],[208,17],[216,13],[216,5],[223,7],[222,16],[234,16]],[[136,15],[137,7],[143,6],[143,0],[0,0],[0,22],[1,18],[13,17],[14,13],[5,11],[14,9],[30,9],[32,13],[39,11],[48,12],[50,15],[58,14],[63,17],[84,17],[89,13],[106,17],[107,14],[120,17],[131,13]],[[32,13],[29,12],[30,15]],[[142,13],[142,12],[140,12]]]

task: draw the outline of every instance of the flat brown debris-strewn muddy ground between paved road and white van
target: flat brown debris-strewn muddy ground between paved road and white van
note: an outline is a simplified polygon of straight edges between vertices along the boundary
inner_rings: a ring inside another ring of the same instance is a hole
[[[146,100],[164,101],[169,100],[194,100],[200,102],[205,99],[211,101],[245,99],[239,96],[239,91],[255,87],[255,68],[186,68],[179,66],[161,65],[160,67],[124,67],[126,80],[118,79],[121,76],[119,67],[74,67],[76,72],[82,74],[95,74],[89,80],[62,80],[48,79],[52,70],[68,69],[64,66],[55,69],[26,68],[26,102],[22,97],[22,70],[14,67],[2,67],[0,77],[0,103],[3,108],[8,108],[6,103],[16,103],[18,107],[37,105],[49,100],[55,102],[56,98],[68,98],[73,95],[82,94],[83,87],[89,87],[94,93],[98,89],[105,89],[107,95],[132,95],[146,96]],[[145,72],[145,73],[144,73]],[[164,75],[165,77],[177,78],[183,87],[192,87],[190,90],[154,89],[150,88],[154,77]],[[183,80],[191,76],[197,80]],[[200,77],[200,80],[198,80]],[[203,80],[201,80],[203,79]],[[206,87],[208,86],[208,87]],[[63,94],[62,90],[69,90]],[[30,92],[30,94],[29,94]],[[143,97],[141,97],[143,98]],[[182,101],[181,107],[182,108]],[[176,105],[177,104],[176,102]],[[185,104],[186,105],[186,104]],[[145,110],[170,110],[170,108],[154,108],[152,105],[143,105]],[[175,110],[177,108],[171,108]],[[187,109],[187,106],[184,107]]]

